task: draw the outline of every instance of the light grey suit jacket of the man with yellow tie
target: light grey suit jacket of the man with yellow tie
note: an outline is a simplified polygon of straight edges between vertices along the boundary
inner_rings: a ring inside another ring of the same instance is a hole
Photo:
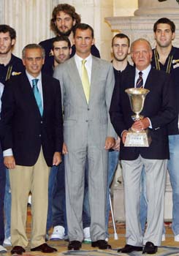
[[[87,140],[104,148],[107,137],[115,137],[109,108],[115,78],[113,66],[92,56],[91,92],[87,104],[75,58],[58,65],[54,72],[61,84],[64,107],[64,142],[71,149]]]

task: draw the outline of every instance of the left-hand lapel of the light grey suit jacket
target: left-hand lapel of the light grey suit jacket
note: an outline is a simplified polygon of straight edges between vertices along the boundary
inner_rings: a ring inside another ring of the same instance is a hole
[[[68,61],[67,70],[69,72],[69,77],[72,79],[73,86],[77,87],[77,91],[79,91],[80,96],[83,98],[83,100],[87,104],[86,99],[85,99],[85,94],[83,91],[83,85],[81,83],[80,74],[77,70],[77,65],[75,63],[74,57]]]

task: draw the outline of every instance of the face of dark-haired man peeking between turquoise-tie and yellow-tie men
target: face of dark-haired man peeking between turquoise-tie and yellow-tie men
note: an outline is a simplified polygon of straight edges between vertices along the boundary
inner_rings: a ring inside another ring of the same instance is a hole
[[[53,42],[53,56],[57,64],[64,63],[72,52],[66,41]]]

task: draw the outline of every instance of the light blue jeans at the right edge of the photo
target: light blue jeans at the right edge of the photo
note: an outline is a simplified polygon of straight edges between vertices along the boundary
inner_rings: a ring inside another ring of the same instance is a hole
[[[169,136],[170,160],[168,171],[172,185],[172,231],[179,234],[179,135]]]

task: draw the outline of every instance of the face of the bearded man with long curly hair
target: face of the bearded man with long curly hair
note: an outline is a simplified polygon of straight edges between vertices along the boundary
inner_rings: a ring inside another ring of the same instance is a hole
[[[72,31],[72,27],[75,26],[76,20],[73,20],[72,17],[65,12],[58,12],[55,23],[58,34],[68,37]]]

